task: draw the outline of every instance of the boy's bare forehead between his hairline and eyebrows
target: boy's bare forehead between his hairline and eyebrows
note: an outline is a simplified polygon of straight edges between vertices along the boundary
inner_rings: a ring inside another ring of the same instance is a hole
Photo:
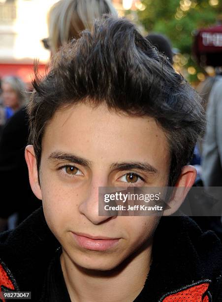
[[[45,129],[42,153],[71,152],[98,161],[166,162],[166,136],[154,118],[110,111],[106,105],[79,103],[57,111]]]

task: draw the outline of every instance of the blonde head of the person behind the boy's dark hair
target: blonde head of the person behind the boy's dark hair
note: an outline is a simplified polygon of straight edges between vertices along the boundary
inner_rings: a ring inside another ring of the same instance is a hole
[[[85,29],[91,29],[96,18],[103,14],[117,16],[110,0],[61,0],[55,3],[48,14],[49,38],[44,46],[54,55],[64,43],[79,38]]]

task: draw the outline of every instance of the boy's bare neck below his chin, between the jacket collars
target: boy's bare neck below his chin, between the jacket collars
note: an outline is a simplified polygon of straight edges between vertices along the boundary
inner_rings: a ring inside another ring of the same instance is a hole
[[[144,287],[150,270],[152,243],[141,247],[109,271],[88,270],[74,264],[63,251],[61,265],[72,302],[131,302]]]

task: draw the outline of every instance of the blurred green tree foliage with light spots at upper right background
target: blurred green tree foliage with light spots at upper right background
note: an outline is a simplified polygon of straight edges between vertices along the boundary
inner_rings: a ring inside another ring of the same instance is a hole
[[[195,31],[214,25],[222,13],[220,0],[141,0],[144,10],[138,10],[138,20],[148,32],[159,32],[170,38],[173,47],[182,54],[184,67],[197,66],[191,56]],[[189,77],[196,80],[196,74]]]

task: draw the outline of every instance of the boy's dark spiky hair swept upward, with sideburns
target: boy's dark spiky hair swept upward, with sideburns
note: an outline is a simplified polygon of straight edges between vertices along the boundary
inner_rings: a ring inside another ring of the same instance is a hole
[[[205,118],[196,92],[125,18],[95,21],[92,32],[63,45],[49,73],[36,75],[33,86],[28,112],[38,169],[44,130],[55,112],[86,100],[156,119],[169,142],[170,186],[203,133]]]

